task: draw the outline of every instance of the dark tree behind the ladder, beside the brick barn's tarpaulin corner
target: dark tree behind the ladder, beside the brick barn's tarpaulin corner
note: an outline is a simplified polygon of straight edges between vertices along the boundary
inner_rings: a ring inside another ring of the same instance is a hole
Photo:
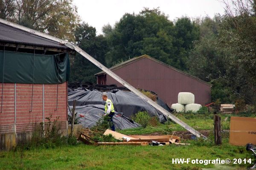
[[[108,51],[107,40],[103,35],[96,36],[96,29],[87,23],[81,23],[75,31],[76,43],[79,47],[105,65],[105,54]],[[76,54],[71,66],[70,81],[94,82],[94,74],[101,71],[96,65]]]

